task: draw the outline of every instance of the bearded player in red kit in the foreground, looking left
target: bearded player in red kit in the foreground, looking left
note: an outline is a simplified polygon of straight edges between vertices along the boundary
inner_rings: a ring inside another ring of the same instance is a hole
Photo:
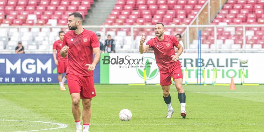
[[[78,12],[68,17],[71,31],[65,33],[60,55],[68,55],[67,80],[72,97],[72,114],[76,123],[76,132],[82,132],[80,121],[80,99],[82,99],[83,132],[89,131],[91,119],[91,101],[96,96],[93,70],[100,60],[100,47],[96,34],[82,28],[82,15]],[[93,60],[94,53],[94,60]]]

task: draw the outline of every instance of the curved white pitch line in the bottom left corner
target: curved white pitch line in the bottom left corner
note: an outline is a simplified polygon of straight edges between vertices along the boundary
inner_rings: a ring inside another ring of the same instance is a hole
[[[17,120],[1,120],[0,121],[17,121]],[[19,122],[39,122],[39,123],[47,123],[47,124],[54,124],[59,125],[59,127],[56,128],[46,128],[46,129],[40,129],[40,130],[30,130],[30,131],[46,131],[46,130],[54,130],[54,129],[60,129],[60,128],[66,128],[68,125],[62,124],[62,123],[53,123],[53,122],[44,122],[44,121],[19,121]],[[19,126],[19,125],[17,125]],[[16,131],[16,132],[30,132],[30,131]]]

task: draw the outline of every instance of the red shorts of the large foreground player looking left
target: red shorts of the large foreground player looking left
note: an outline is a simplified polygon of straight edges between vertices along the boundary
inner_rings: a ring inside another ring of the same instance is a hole
[[[67,74],[67,82],[70,94],[79,93],[81,99],[91,99],[96,96],[93,76]]]

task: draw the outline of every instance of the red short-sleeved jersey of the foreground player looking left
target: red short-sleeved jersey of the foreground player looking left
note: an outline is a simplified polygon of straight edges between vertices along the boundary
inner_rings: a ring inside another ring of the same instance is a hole
[[[77,35],[74,31],[68,31],[63,37],[62,47],[67,45],[68,49],[68,67],[67,72],[79,76],[93,76],[93,71],[88,72],[88,66],[93,62],[93,48],[99,47],[99,41],[96,34],[84,29]]]

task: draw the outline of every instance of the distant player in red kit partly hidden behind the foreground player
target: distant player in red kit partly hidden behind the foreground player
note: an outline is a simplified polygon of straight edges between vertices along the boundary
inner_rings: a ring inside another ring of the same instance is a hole
[[[64,82],[67,79],[67,75],[65,75],[62,78],[62,74],[66,72],[66,69],[67,69],[67,66],[68,66],[68,58],[60,56],[60,50],[62,48],[62,40],[63,40],[64,34],[65,34],[64,31],[60,31],[59,32],[60,40],[55,41],[54,44],[53,44],[53,58],[54,58],[55,64],[57,65],[57,71],[59,73],[58,80],[59,80],[60,90],[61,91],[65,91],[66,90],[65,86],[64,86]],[[56,51],[57,51],[57,57],[56,57]]]

